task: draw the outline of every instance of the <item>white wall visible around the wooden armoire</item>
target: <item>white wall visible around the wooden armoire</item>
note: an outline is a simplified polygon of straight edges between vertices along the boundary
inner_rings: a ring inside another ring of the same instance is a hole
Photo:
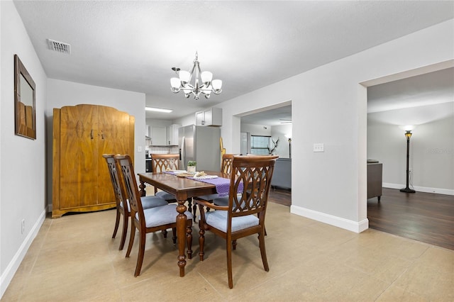
[[[48,106],[45,112],[48,131],[48,203],[52,205],[52,117],[53,108],[94,104],[125,111],[135,118],[134,170],[145,172],[145,94],[100,86],[48,79]],[[138,147],[142,151],[138,152]]]

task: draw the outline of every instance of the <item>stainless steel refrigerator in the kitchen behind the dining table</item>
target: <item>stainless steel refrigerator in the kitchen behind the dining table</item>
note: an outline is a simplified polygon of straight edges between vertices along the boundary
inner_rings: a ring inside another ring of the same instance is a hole
[[[221,129],[217,127],[187,125],[178,128],[178,145],[181,169],[189,160],[196,161],[197,171],[221,169]]]

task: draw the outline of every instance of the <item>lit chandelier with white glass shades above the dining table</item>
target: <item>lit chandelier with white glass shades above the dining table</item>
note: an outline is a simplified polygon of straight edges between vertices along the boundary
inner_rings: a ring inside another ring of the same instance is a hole
[[[222,81],[220,79],[213,79],[213,74],[211,72],[200,71],[199,55],[197,52],[191,72],[180,70],[177,67],[172,67],[172,70],[178,75],[178,77],[172,77],[172,79],[170,79],[172,92],[175,94],[180,90],[183,90],[184,96],[189,98],[192,94],[194,99],[197,100],[199,99],[200,94],[204,94],[205,98],[208,99],[211,92],[214,94],[220,94],[222,92]],[[195,77],[193,77],[194,72]],[[192,79],[194,79],[194,82],[191,83]]]

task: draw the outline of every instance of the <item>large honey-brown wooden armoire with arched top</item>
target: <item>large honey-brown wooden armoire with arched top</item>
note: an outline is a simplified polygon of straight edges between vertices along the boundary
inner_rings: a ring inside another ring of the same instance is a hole
[[[52,218],[116,206],[103,154],[134,156],[135,119],[116,108],[54,108]]]

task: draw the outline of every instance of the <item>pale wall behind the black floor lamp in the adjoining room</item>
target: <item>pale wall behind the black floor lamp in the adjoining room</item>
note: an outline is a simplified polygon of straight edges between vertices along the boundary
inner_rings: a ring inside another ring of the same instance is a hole
[[[399,125],[417,125],[410,139],[410,185],[416,191],[454,195],[454,102],[367,117],[367,158],[383,163],[383,186],[406,185],[406,138]]]

